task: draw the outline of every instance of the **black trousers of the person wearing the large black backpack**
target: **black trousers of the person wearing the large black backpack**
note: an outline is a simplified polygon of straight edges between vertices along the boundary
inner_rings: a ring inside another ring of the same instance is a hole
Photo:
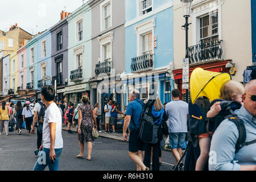
[[[144,164],[146,167],[150,168],[151,162],[151,147],[153,147],[153,156],[152,156],[152,171],[159,171],[159,148],[160,143],[147,143]]]

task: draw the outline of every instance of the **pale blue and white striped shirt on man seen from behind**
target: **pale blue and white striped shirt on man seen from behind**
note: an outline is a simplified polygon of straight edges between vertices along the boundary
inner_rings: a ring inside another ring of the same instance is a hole
[[[187,133],[188,104],[181,100],[171,101],[166,105],[169,133]]]

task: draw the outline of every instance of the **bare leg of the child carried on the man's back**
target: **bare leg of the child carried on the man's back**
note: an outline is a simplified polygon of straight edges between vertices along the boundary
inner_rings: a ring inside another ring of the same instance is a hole
[[[200,156],[196,161],[196,171],[203,171],[210,150],[210,137],[199,139]]]

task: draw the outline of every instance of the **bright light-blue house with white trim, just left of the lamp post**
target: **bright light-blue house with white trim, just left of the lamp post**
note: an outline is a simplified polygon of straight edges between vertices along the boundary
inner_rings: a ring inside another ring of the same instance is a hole
[[[141,92],[143,101],[157,96],[162,104],[170,102],[174,89],[171,77],[173,2],[126,0],[125,7],[125,74],[122,80],[126,105],[132,88]]]

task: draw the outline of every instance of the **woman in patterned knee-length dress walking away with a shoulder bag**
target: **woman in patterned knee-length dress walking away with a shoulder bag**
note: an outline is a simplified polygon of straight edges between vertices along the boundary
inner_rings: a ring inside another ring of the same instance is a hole
[[[88,156],[86,160],[91,160],[92,154],[92,129],[93,126],[97,129],[96,117],[93,112],[93,106],[89,104],[90,100],[88,96],[82,96],[82,105],[79,107],[79,126],[78,126],[78,138],[80,154],[76,158],[84,158],[84,142],[87,143]]]

